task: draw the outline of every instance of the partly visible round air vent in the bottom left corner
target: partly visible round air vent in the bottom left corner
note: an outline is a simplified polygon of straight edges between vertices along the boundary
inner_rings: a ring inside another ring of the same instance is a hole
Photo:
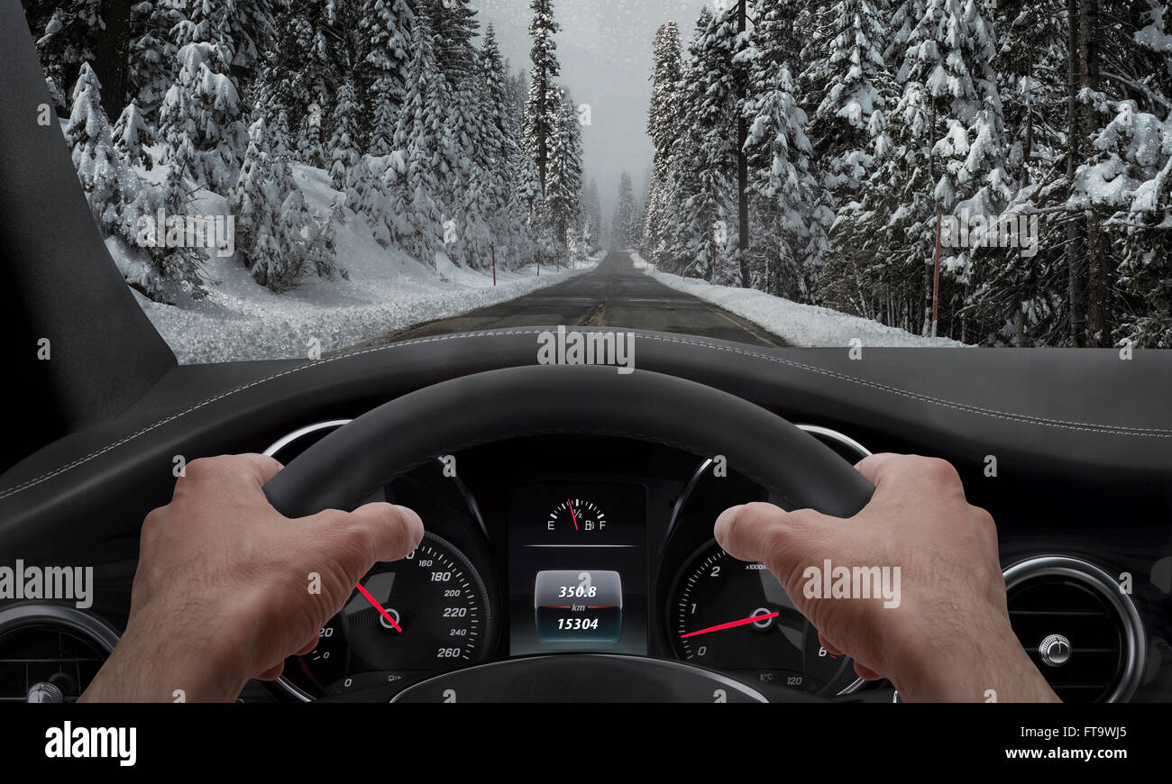
[[[76,702],[117,641],[103,621],[71,607],[0,612],[0,702]]]

